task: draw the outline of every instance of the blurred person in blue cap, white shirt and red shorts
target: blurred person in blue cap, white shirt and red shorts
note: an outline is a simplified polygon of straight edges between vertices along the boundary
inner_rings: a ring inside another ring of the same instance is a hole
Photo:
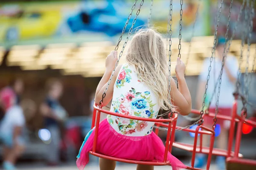
[[[215,84],[218,82],[218,76],[220,75],[223,52],[224,52],[224,37],[218,37],[218,44],[216,46],[216,57],[212,63],[212,72],[210,72],[210,79],[208,83],[207,89],[207,98],[211,98],[212,95],[215,95],[210,103],[209,112],[215,112],[215,104],[217,101],[217,93],[218,93],[218,84],[217,88],[214,88]],[[225,64],[223,68],[222,81],[221,81],[221,93],[219,96],[219,104],[218,104],[218,114],[231,116],[232,114],[232,106],[233,106],[233,92],[235,91],[236,77],[238,72],[238,62],[234,56],[227,55],[225,59]],[[203,96],[205,91],[205,85],[207,81],[208,75],[208,67],[209,67],[210,59],[207,58],[204,61],[203,69],[201,75],[199,75],[199,85],[198,85],[198,94],[197,94],[197,109],[201,109]],[[217,137],[217,146],[220,149],[227,150],[227,141],[228,141],[228,129],[230,127],[230,121],[224,121],[218,119],[217,123],[221,127],[220,135]],[[207,127],[212,127],[213,118],[204,117],[204,125]],[[203,144],[207,146],[209,144],[209,138],[207,135],[203,137]],[[195,167],[202,168],[207,163],[207,156],[203,154],[198,154],[195,160]],[[225,170],[225,157],[218,156],[216,158],[216,164],[218,166],[218,170]]]

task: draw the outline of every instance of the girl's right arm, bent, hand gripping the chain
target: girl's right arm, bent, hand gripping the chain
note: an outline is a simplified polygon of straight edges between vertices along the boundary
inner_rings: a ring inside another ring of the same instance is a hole
[[[192,102],[191,102],[191,95],[189,92],[189,88],[186,84],[185,80],[185,64],[180,60],[177,59],[177,66],[175,68],[179,90],[177,89],[177,85],[174,79],[171,79],[171,96],[172,96],[172,103],[177,107],[177,111],[181,115],[189,115],[192,109]]]

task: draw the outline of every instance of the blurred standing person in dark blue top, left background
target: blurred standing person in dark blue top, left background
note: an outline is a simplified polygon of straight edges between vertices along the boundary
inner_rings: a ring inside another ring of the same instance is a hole
[[[48,145],[47,162],[49,166],[56,166],[60,161],[61,126],[67,118],[66,110],[59,103],[63,85],[58,79],[47,82],[47,97],[41,104],[41,114],[44,116],[44,126],[51,134]]]

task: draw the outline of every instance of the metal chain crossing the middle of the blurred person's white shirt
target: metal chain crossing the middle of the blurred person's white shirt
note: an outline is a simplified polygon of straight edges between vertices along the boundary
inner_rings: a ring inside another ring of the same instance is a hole
[[[219,97],[220,97],[220,93],[221,93],[222,73],[223,73],[223,69],[224,69],[225,59],[227,57],[226,47],[227,47],[228,31],[229,31],[229,28],[230,28],[229,23],[230,23],[232,5],[233,5],[233,0],[231,0],[230,7],[229,7],[229,15],[228,15],[228,21],[227,21],[227,31],[226,31],[226,35],[225,35],[224,52],[223,52],[223,56],[222,56],[223,58],[222,58],[222,65],[221,65],[221,74],[220,74],[220,79],[219,79],[219,84],[218,84],[218,93],[217,93],[217,101],[216,101],[216,108],[215,108],[215,117],[213,118],[213,125],[212,125],[213,128],[215,128],[215,125],[216,125],[216,122],[217,122],[218,104],[219,104]]]

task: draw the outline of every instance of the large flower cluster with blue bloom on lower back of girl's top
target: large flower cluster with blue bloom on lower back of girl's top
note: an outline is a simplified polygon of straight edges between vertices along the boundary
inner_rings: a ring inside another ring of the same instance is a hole
[[[135,88],[131,88],[124,95],[122,94],[119,98],[116,98],[112,102],[114,112],[121,113],[124,115],[135,115],[142,118],[153,118],[157,115],[158,111],[155,112],[153,107],[156,104],[152,103],[151,94],[148,91],[137,92]],[[138,121],[127,118],[115,117],[113,120],[111,116],[108,116],[109,124],[117,124],[119,131],[123,135],[129,135],[136,132],[143,131],[147,126],[148,122]],[[147,132],[152,132],[153,127]]]

